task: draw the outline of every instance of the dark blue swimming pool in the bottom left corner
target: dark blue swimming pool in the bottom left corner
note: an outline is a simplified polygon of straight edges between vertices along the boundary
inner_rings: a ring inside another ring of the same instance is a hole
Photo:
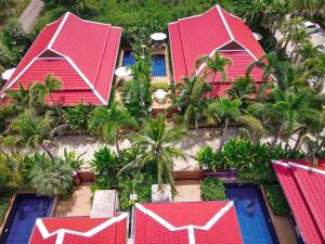
[[[49,217],[54,198],[35,194],[17,194],[4,223],[0,243],[27,244],[37,218]]]

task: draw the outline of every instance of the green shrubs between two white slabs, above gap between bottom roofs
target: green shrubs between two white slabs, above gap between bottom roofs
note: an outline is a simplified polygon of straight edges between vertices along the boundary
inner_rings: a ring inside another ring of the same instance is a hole
[[[130,210],[130,207],[135,204],[135,201],[130,200],[130,194],[133,193],[138,195],[138,203],[151,202],[152,184],[154,183],[153,177],[148,174],[136,172],[119,178],[118,197],[120,208],[122,210]]]

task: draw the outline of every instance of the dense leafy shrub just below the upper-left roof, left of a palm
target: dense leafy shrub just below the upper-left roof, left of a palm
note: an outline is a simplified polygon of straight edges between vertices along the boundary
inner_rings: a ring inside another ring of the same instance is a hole
[[[66,107],[64,120],[73,132],[84,132],[88,130],[88,120],[92,107],[80,103],[77,106]]]

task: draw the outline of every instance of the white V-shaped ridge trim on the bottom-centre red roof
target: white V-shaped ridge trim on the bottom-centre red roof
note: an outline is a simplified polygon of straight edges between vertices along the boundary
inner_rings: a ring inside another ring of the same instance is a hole
[[[232,207],[234,206],[234,202],[230,201],[223,208],[221,208],[205,226],[183,226],[183,227],[174,227],[170,222],[168,222],[166,219],[158,216],[156,213],[145,208],[141,204],[136,203],[135,208],[141,210],[143,214],[148,215],[151,218],[159,222],[161,226],[167,228],[169,231],[181,231],[181,230],[187,230],[188,232],[188,242],[190,244],[195,244],[195,234],[194,230],[209,230],[211,227],[218,222],[218,220],[227,213]]]

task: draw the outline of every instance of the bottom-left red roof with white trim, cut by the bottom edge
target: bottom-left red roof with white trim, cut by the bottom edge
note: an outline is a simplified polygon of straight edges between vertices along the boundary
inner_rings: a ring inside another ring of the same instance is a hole
[[[37,219],[29,244],[126,244],[127,214],[113,218]]]

